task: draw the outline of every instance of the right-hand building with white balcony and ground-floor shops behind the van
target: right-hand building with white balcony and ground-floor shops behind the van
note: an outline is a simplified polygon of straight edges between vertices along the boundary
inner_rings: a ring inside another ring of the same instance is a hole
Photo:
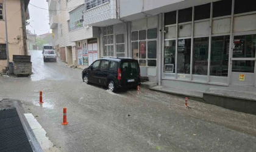
[[[254,0],[88,0],[99,57],[132,57],[158,85],[256,91]]]

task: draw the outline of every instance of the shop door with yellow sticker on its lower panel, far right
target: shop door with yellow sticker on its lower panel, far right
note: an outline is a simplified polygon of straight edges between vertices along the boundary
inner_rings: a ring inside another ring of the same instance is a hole
[[[255,85],[256,35],[238,35],[233,39],[231,84]]]

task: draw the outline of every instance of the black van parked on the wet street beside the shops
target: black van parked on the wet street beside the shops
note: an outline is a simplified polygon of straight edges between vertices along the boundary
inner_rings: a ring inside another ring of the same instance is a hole
[[[103,57],[82,71],[85,83],[107,86],[112,92],[117,88],[137,88],[140,85],[140,66],[132,58]]]

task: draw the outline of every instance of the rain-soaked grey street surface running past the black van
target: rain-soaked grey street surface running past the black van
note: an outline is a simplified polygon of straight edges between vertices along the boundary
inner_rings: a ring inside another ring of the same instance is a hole
[[[191,100],[185,108],[183,98],[143,88],[114,94],[83,83],[82,69],[30,55],[34,74],[0,77],[0,100],[21,100],[60,151],[256,150],[256,116]]]

